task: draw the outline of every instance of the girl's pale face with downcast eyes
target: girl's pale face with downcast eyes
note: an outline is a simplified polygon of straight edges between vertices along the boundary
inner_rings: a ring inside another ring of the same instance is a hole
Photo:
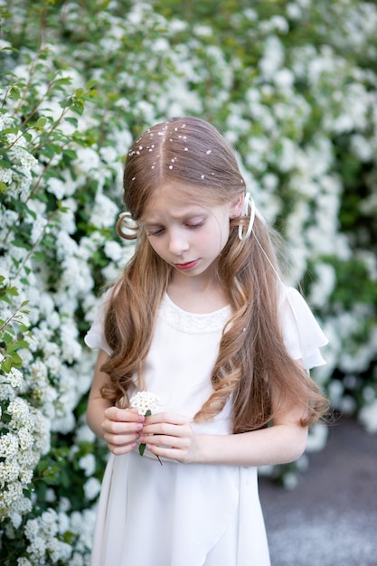
[[[169,184],[154,194],[146,205],[141,223],[152,248],[186,277],[211,276],[216,260],[229,238],[230,219],[240,214],[242,197],[234,202],[208,205],[197,203],[195,189]]]

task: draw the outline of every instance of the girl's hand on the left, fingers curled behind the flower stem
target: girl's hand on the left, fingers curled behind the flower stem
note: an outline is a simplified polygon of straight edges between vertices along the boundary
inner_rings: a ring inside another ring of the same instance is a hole
[[[137,410],[118,407],[109,407],[104,415],[101,427],[110,452],[119,456],[133,450],[146,418],[139,415]]]

